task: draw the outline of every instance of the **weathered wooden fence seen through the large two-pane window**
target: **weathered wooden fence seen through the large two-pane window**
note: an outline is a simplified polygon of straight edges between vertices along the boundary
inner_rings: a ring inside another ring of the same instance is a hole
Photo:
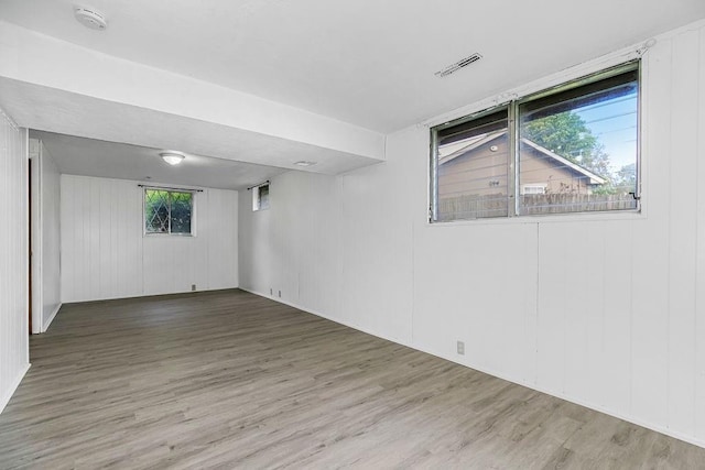
[[[438,200],[438,220],[476,219],[506,217],[507,196],[456,196]],[[587,195],[587,194],[536,194],[519,197],[521,215],[596,212],[606,210],[636,209],[637,201],[631,195]]]

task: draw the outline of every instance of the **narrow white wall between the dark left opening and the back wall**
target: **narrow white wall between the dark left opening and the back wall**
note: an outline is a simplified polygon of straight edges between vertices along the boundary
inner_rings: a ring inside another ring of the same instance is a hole
[[[32,160],[32,332],[45,332],[62,306],[58,166],[30,139]]]

